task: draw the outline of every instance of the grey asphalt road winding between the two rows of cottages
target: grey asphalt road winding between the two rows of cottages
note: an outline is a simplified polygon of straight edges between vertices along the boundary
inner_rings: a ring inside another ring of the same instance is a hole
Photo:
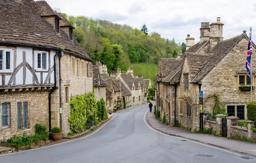
[[[38,150],[0,156],[0,163],[256,162],[241,155],[164,136],[145,125],[146,105],[116,114],[92,136]]]

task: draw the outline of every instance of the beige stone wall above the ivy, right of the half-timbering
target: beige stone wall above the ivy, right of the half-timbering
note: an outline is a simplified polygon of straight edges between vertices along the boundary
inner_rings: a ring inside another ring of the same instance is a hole
[[[75,74],[72,73],[72,58],[75,58]],[[77,66],[79,61],[79,66]],[[84,75],[82,73],[82,62],[84,62]],[[87,76],[87,65],[91,63],[70,54],[64,54],[61,58],[61,105],[62,105],[62,129],[65,133],[69,132],[68,118],[70,117],[70,98],[77,95],[85,95],[92,92],[92,77]],[[59,74],[58,58],[56,59],[56,72]],[[57,86],[59,86],[59,75],[57,75]],[[68,101],[66,100],[65,88],[68,88]],[[60,127],[60,89],[52,93],[51,123],[52,127]]]

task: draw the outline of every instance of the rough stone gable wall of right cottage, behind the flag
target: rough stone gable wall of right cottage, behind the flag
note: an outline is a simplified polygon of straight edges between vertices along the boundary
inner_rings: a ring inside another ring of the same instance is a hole
[[[220,99],[222,107],[227,104],[241,104],[245,105],[245,118],[246,104],[250,100],[250,91],[239,90],[239,74],[246,74],[244,67],[244,54],[247,52],[248,40],[245,38],[232,49],[220,63],[218,63],[202,80],[202,91],[204,91],[204,111],[212,113],[213,97],[216,96]],[[253,48],[253,50],[255,50]],[[252,58],[253,63],[256,58]],[[256,65],[253,65],[253,72],[256,71]],[[255,86],[255,77],[253,78]],[[253,89],[253,100],[255,98],[255,90]]]

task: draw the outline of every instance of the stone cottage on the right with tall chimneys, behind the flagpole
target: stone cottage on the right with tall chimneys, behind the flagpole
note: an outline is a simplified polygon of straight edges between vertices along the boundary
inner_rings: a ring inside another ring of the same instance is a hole
[[[212,113],[215,105],[214,97],[217,97],[228,116],[237,116],[240,120],[247,118],[246,104],[250,101],[248,87],[251,85],[245,68],[248,36],[246,31],[243,31],[241,35],[223,40],[223,26],[219,17],[212,24],[202,22],[200,42],[194,45],[195,39],[188,35],[187,51],[181,57],[183,58],[181,68],[170,66],[176,72],[181,72],[179,82],[174,84],[176,89],[170,89],[168,93],[168,96],[174,98],[175,105],[170,112],[175,113],[174,120],[179,120],[180,125],[192,130],[199,128],[200,91],[204,92],[204,114]],[[255,51],[254,44],[253,51]],[[255,63],[256,58],[252,59]],[[255,100],[255,65],[252,72],[253,100]],[[165,94],[167,91],[161,89],[162,81],[159,79],[164,81],[166,78],[162,79],[161,74],[157,74],[157,105],[161,108],[161,98],[165,96],[161,93]],[[168,113],[163,107],[162,117]],[[170,123],[173,124],[174,121]]]

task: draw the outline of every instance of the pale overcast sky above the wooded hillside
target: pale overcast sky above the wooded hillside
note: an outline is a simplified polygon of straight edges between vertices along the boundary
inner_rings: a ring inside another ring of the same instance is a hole
[[[53,9],[68,15],[128,24],[138,29],[145,23],[150,32],[186,42],[187,34],[199,41],[200,22],[221,17],[224,39],[252,31],[256,40],[256,1],[242,0],[46,0]]]

